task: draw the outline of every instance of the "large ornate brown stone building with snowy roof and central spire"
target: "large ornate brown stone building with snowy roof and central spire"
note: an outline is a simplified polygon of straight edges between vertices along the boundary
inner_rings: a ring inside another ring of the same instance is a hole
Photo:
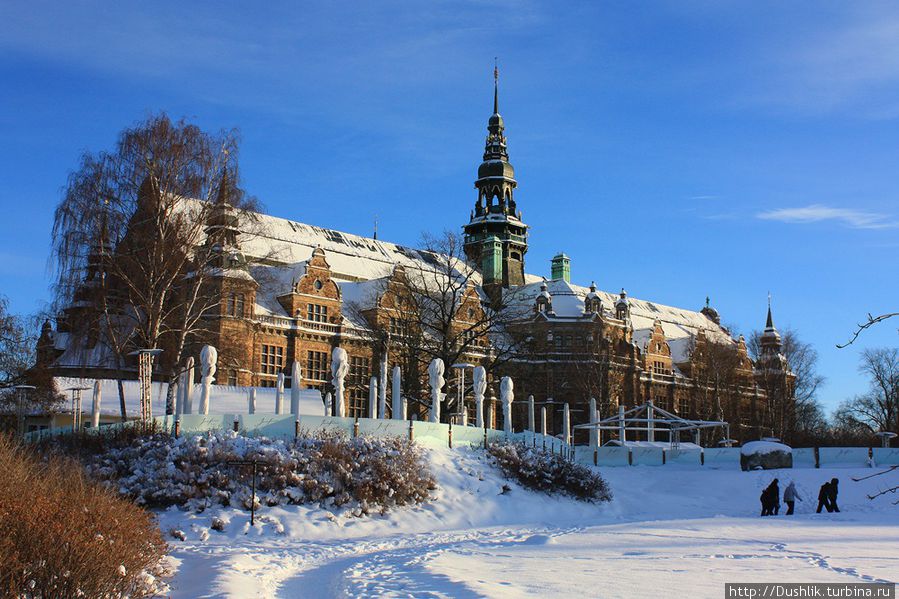
[[[770,306],[761,359],[753,363],[743,338],[731,337],[708,300],[693,311],[629,297],[624,289],[607,293],[592,283],[576,285],[564,254],[547,265],[548,279],[526,272],[529,227],[516,204],[497,95],[495,89],[477,198],[463,227],[465,263],[453,265],[465,279],[453,327],[470,325],[466,339],[475,337],[460,357],[489,367],[493,392],[499,376],[513,376],[516,398],[533,395],[549,406],[549,426],[556,431],[554,407],[567,402],[574,421],[584,422],[586,402],[594,397],[604,415],[618,405],[653,400],[687,417],[727,418],[737,438],[770,433],[770,404],[788,403],[793,382]],[[221,383],[273,386],[298,361],[302,384],[324,391],[331,351],[340,346],[350,358],[352,415],[367,413],[371,377],[378,376],[385,351],[391,366],[412,371],[404,392],[425,400],[421,365],[401,360],[396,345],[410,335],[403,305],[409,273],[433,269],[441,256],[268,215],[259,215],[247,235],[224,198],[208,214],[204,251],[220,257],[210,279],[219,301],[207,315],[204,341],[219,348]],[[84,295],[95,271],[96,263],[56,330],[45,327],[41,359],[59,375],[122,375],[123,367],[106,359],[104,348],[81,343],[76,349],[70,341],[72,322],[85,318]],[[497,306],[515,315],[502,330],[471,324]],[[503,359],[497,359],[498,337],[514,340]],[[132,366],[124,370],[134,377]],[[454,396],[454,379],[447,379]],[[422,401],[410,413],[424,416],[425,406]],[[516,411],[516,419],[523,416]]]

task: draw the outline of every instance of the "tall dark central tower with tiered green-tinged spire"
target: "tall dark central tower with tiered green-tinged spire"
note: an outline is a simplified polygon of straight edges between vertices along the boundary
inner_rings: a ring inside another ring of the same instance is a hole
[[[465,255],[481,270],[487,288],[524,284],[528,227],[515,204],[515,169],[506,149],[505,125],[499,114],[499,70],[493,69],[493,114],[487,121],[484,160],[474,186],[478,199],[465,225]]]

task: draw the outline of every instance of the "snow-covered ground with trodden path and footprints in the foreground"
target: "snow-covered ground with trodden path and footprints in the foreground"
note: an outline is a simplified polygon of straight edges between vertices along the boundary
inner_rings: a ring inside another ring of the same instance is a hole
[[[615,499],[590,505],[506,483],[481,455],[428,450],[439,481],[427,505],[356,518],[321,508],[169,510],[174,597],[722,597],[725,582],[899,578],[899,506],[865,493],[899,482],[870,469],[744,473],[605,468]],[[773,478],[795,480],[795,516],[759,518]],[[840,479],[839,514],[815,514]],[[228,521],[209,530],[211,518]]]

